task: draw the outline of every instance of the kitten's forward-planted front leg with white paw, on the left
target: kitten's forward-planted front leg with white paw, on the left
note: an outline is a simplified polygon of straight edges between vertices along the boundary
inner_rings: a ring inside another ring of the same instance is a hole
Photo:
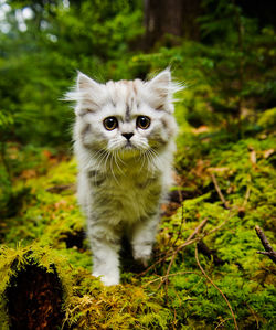
[[[93,276],[99,277],[104,285],[119,284],[120,237],[112,227],[89,224],[88,237],[93,252]]]

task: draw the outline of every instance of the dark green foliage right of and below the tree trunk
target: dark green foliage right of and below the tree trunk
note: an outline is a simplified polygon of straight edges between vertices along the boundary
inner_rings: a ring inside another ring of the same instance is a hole
[[[171,66],[188,87],[181,97],[188,121],[195,127],[223,123],[241,138],[256,110],[275,104],[275,29],[259,28],[234,2],[203,4],[205,14],[199,22],[204,43],[161,46],[156,53],[134,56],[130,66],[151,71]]]

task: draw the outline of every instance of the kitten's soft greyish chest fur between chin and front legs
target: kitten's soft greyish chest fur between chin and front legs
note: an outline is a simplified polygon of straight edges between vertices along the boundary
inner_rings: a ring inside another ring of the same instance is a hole
[[[89,175],[89,203],[100,219],[113,222],[136,222],[150,217],[160,204],[160,175],[130,173],[114,177],[95,172]]]

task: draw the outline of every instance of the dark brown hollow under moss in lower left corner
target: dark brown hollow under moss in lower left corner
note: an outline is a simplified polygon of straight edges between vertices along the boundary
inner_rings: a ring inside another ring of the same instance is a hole
[[[13,276],[6,294],[10,329],[60,329],[64,319],[56,273],[28,265]]]

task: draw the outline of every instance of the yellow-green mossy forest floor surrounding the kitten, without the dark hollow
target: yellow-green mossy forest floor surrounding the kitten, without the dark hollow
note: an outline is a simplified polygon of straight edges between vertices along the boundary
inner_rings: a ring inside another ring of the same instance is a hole
[[[112,288],[91,276],[75,160],[41,151],[31,169],[17,174],[17,207],[2,212],[2,329],[9,329],[8,292],[30,265],[60,280],[63,320],[56,318],[56,329],[234,329],[222,292],[240,329],[275,329],[276,269],[256,254],[264,248],[255,233],[259,225],[274,243],[275,138],[267,116],[267,126],[261,123],[241,139],[223,128],[181,124],[178,185],[163,207],[152,262],[147,269],[134,267],[125,251],[121,285]],[[13,159],[23,157],[25,151],[12,148]],[[201,244],[179,248],[202,222],[194,236]]]

